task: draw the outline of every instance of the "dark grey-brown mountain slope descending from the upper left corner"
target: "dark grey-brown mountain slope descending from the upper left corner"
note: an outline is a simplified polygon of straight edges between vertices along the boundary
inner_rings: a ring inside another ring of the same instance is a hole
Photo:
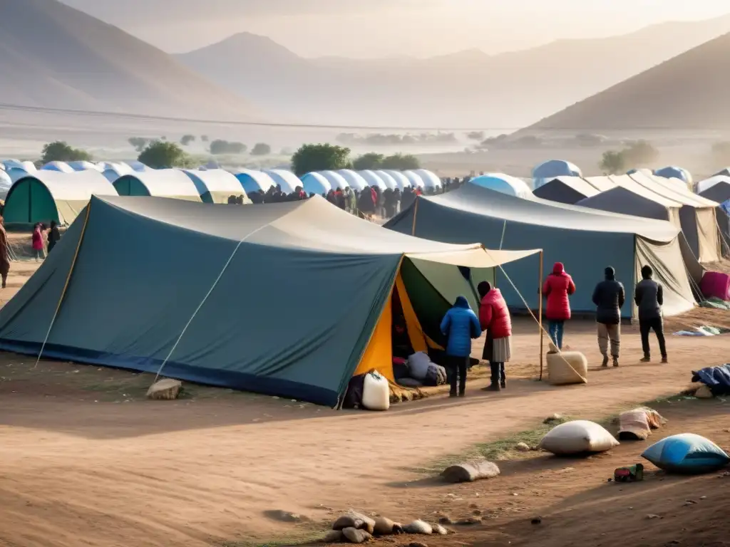
[[[0,103],[246,119],[252,109],[172,56],[56,0],[0,0]]]

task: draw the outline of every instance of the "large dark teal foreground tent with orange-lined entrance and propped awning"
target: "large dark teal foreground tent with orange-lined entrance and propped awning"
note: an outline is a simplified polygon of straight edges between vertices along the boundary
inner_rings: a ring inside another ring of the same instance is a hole
[[[396,293],[413,349],[437,349],[458,266],[534,252],[402,236],[319,197],[94,197],[4,307],[0,349],[336,406],[355,374],[393,378]]]

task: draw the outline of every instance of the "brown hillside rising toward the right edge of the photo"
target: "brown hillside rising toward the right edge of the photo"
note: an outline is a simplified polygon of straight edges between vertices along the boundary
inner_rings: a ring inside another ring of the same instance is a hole
[[[610,129],[730,128],[730,34],[678,55],[532,125]]]

